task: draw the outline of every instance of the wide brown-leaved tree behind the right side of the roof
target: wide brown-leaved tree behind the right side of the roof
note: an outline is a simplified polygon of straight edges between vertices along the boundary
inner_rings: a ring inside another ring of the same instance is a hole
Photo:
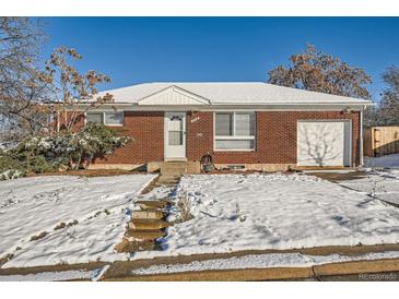
[[[314,45],[290,57],[291,64],[271,70],[269,83],[333,95],[371,98],[367,84],[371,76],[362,69],[350,67],[337,57],[324,53]]]

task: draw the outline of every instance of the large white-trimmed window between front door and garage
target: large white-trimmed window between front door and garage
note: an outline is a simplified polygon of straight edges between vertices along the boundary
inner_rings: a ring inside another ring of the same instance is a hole
[[[215,112],[216,151],[255,150],[255,112]]]

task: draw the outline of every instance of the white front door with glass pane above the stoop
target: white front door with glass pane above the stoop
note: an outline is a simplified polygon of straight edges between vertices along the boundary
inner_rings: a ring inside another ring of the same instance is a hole
[[[165,159],[186,158],[186,112],[165,112]]]

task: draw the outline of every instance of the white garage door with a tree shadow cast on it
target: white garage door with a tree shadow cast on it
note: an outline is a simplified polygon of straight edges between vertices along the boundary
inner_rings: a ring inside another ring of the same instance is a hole
[[[298,121],[297,166],[350,166],[350,121]]]

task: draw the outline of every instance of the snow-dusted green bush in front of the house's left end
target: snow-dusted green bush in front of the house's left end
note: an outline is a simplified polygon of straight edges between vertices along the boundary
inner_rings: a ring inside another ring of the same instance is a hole
[[[112,154],[125,146],[130,137],[96,123],[89,123],[79,132],[61,132],[51,136],[32,136],[14,148],[0,150],[0,174],[14,169],[26,172],[48,172],[62,166],[78,169],[96,156]]]

